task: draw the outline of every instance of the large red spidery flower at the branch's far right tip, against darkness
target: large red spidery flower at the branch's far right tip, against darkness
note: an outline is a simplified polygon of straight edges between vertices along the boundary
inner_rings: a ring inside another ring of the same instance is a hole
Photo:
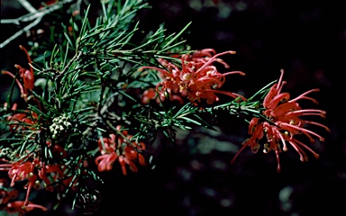
[[[318,92],[319,89],[312,89],[300,94],[294,99],[290,100],[290,94],[282,93],[282,87],[286,84],[282,81],[284,75],[284,70],[281,70],[281,76],[277,84],[272,85],[269,89],[269,93],[266,95],[263,101],[263,115],[266,117],[265,120],[260,120],[259,118],[252,118],[249,125],[250,139],[246,139],[242,144],[243,146],[238,151],[238,153],[232,158],[232,163],[234,163],[236,157],[239,156],[241,151],[250,147],[252,152],[256,153],[259,148],[259,139],[266,139],[264,144],[264,153],[268,153],[273,150],[276,153],[278,161],[278,172],[280,172],[281,167],[279,163],[279,153],[282,149],[287,151],[287,143],[295,148],[296,152],[300,156],[301,161],[307,161],[308,157],[305,150],[310,151],[314,157],[318,158],[319,155],[314,152],[312,148],[306,146],[303,142],[296,139],[298,135],[305,135],[311,142],[314,142],[314,138],[318,138],[324,141],[323,137],[313,130],[305,129],[306,125],[316,125],[330,131],[325,125],[315,122],[307,121],[302,119],[302,116],[320,116],[325,117],[325,111],[315,110],[315,109],[302,109],[297,103],[298,100],[305,99],[317,103],[314,98],[306,96],[313,92]],[[264,136],[265,135],[265,136]]]

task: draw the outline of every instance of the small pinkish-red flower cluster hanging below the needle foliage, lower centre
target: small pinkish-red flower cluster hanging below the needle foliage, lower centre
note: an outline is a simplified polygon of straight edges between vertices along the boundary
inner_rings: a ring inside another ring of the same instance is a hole
[[[96,157],[95,163],[100,172],[111,170],[116,159],[122,166],[123,175],[126,175],[126,165],[130,166],[132,172],[137,172],[138,168],[135,161],[141,166],[145,166],[145,158],[141,155],[141,151],[145,149],[143,142],[137,143],[130,141],[132,135],[128,135],[127,130],[121,130],[121,126],[117,126],[118,135],[110,134],[109,138],[98,139],[98,146],[101,156]]]

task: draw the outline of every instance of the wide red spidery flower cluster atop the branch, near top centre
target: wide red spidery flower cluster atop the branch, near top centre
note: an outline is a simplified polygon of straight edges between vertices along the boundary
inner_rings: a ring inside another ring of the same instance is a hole
[[[170,93],[187,93],[187,98],[191,103],[200,103],[204,99],[206,103],[212,104],[219,101],[216,94],[226,94],[233,98],[240,97],[246,101],[246,98],[240,94],[225,92],[218,90],[223,86],[225,76],[231,74],[239,74],[244,76],[241,71],[231,71],[221,74],[212,64],[219,62],[225,67],[229,67],[220,56],[226,54],[234,54],[235,51],[225,51],[215,54],[214,49],[202,49],[193,54],[182,55],[181,68],[168,62],[164,59],[159,59],[159,62],[165,69],[159,67],[141,67],[143,69],[154,69],[159,71],[163,76],[163,81],[160,82],[156,90],[161,96],[166,96]]]

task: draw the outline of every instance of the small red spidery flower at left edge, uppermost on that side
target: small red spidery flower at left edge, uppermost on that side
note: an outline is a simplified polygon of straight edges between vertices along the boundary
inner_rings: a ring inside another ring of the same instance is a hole
[[[25,101],[27,101],[28,89],[32,90],[34,86],[34,82],[35,82],[33,69],[30,66],[30,64],[32,64],[32,59],[30,58],[28,51],[22,45],[20,45],[19,48],[23,49],[23,51],[25,52],[26,57],[28,58],[29,67],[30,67],[30,69],[26,69],[20,65],[14,65],[14,67],[19,69],[19,76],[23,79],[23,85],[11,72],[3,70],[2,73],[14,77],[15,82],[17,83],[17,85],[19,86],[21,90],[21,96],[24,98]]]

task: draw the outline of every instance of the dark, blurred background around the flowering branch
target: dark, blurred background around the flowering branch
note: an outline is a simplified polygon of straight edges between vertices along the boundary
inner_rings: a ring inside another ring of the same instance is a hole
[[[276,172],[273,152],[254,155],[246,149],[230,165],[246,138],[247,126],[237,120],[220,120],[218,132],[182,131],[177,145],[159,138],[150,148],[155,169],[146,167],[137,174],[123,176],[115,167],[111,181],[101,189],[104,199],[96,215],[344,215],[346,140],[341,132],[345,131],[346,120],[342,103],[346,13],[342,1],[149,3],[152,9],[140,15],[140,28],[144,31],[156,30],[159,23],[166,23],[168,33],[177,32],[192,21],[189,33],[184,35],[192,49],[237,51],[223,59],[232,70],[241,70],[246,76],[228,76],[224,86],[227,90],[250,96],[277,79],[281,68],[286,71],[285,89],[292,97],[320,88],[319,93],[311,94],[320,104],[307,103],[307,107],[325,110],[327,118],[316,120],[332,132],[315,129],[325,138],[324,142],[310,145],[320,154],[319,159],[308,154],[310,161],[302,163],[294,149],[282,153],[281,174]],[[3,13],[2,8],[2,16]],[[2,41],[7,28],[1,25]],[[14,49],[22,40],[25,38],[0,50],[2,68],[18,63],[14,62]],[[41,198],[54,199],[50,196]],[[49,215],[58,213],[77,214],[61,207]]]

